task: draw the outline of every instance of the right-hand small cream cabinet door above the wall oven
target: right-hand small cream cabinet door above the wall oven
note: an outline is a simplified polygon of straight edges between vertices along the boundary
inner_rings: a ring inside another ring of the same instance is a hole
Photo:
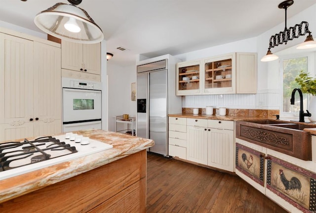
[[[91,74],[101,74],[101,44],[83,44],[83,70]]]

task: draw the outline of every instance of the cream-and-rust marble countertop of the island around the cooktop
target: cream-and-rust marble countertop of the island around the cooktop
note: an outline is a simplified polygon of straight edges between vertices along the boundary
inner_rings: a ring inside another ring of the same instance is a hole
[[[94,140],[111,144],[113,148],[1,180],[0,203],[109,164],[125,156],[152,147],[155,144],[151,139],[101,129],[74,132]]]

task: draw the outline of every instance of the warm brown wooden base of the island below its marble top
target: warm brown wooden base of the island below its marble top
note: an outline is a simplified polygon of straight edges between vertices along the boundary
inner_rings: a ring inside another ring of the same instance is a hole
[[[10,213],[146,212],[146,150],[0,204]]]

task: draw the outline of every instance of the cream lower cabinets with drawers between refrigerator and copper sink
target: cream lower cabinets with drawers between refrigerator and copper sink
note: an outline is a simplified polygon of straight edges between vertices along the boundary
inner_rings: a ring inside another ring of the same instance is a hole
[[[169,117],[170,156],[234,171],[234,151],[234,121]]]

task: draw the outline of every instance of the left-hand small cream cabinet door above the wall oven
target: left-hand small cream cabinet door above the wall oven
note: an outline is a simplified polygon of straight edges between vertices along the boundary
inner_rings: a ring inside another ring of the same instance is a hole
[[[80,69],[82,69],[82,43],[73,43],[62,40],[61,56],[62,68],[75,71],[80,71]]]

